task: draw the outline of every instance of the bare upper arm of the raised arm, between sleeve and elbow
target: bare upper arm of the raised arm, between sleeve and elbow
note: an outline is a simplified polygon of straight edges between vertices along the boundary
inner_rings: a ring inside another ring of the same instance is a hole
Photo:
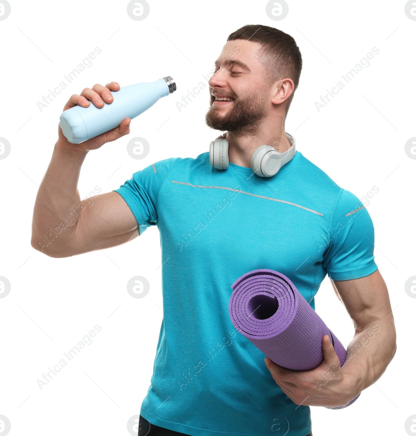
[[[106,249],[139,236],[139,227],[126,201],[116,191],[82,201],[72,242],[74,254]]]

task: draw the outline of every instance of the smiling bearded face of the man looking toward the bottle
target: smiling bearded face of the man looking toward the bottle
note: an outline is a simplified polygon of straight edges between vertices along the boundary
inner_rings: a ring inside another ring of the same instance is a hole
[[[257,132],[258,121],[271,106],[260,49],[259,43],[242,39],[225,44],[209,80],[211,100],[205,116],[209,127],[235,134]]]

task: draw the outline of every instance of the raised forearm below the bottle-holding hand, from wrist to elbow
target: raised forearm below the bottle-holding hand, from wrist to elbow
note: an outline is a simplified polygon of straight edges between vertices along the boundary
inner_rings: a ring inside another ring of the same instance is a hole
[[[84,207],[77,185],[87,153],[62,150],[58,142],[55,144],[34,205],[31,239],[34,249],[59,257],[71,240]]]

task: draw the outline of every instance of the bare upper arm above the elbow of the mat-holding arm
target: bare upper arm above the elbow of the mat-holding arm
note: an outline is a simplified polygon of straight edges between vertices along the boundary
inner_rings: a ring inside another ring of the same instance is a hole
[[[389,292],[378,269],[359,279],[332,280],[332,283],[356,328],[391,314]]]

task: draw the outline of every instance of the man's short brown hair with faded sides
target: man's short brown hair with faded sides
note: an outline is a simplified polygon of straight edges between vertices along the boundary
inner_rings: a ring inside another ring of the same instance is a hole
[[[270,70],[271,83],[286,77],[293,80],[294,89],[287,99],[287,114],[299,85],[300,72],[302,71],[302,55],[296,41],[287,33],[263,24],[247,24],[240,27],[228,36],[227,41],[235,39],[250,40],[262,45],[261,61]]]

